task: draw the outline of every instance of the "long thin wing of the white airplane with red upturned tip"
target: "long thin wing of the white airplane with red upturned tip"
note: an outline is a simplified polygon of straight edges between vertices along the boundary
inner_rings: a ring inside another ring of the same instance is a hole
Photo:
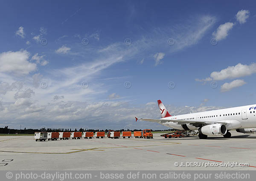
[[[147,119],[147,118],[136,118],[137,120],[141,120],[141,121],[151,121],[151,122],[155,122],[155,123],[166,123],[166,122],[174,122],[177,124],[194,124],[194,125],[198,125],[198,124],[215,124],[215,123],[221,123],[221,124],[227,124],[226,121],[216,121],[216,122],[209,122],[209,121],[194,121],[194,120],[177,120],[177,119]]]

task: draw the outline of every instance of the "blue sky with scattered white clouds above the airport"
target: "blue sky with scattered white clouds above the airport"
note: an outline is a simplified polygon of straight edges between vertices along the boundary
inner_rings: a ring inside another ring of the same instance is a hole
[[[0,126],[165,129],[134,116],[253,104],[254,7],[2,1]]]

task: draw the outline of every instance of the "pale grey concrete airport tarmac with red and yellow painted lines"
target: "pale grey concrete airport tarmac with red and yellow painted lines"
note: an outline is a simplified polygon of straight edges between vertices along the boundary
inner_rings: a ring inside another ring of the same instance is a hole
[[[231,133],[231,138],[207,140],[154,134],[153,139],[36,142],[33,136],[0,136],[0,170],[256,170],[256,135]],[[198,165],[191,166],[194,162]],[[221,162],[249,166],[224,167]]]

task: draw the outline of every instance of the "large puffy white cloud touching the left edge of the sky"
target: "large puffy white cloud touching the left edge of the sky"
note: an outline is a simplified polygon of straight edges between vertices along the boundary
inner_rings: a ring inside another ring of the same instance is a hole
[[[37,69],[35,63],[30,63],[29,52],[20,50],[17,52],[3,52],[0,54],[0,72],[15,75],[27,75]]]

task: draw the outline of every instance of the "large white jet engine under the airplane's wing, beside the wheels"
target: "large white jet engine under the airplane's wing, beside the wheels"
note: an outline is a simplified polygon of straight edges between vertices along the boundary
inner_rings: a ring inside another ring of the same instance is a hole
[[[198,129],[198,132],[203,135],[225,135],[227,128],[224,124],[209,124]]]

